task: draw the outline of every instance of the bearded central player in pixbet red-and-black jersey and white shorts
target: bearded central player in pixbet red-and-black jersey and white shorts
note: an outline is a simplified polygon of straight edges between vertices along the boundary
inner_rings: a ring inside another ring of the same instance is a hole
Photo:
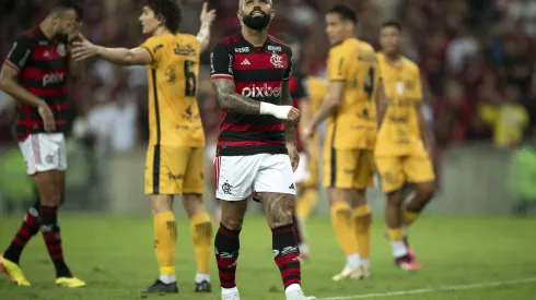
[[[289,79],[292,51],[268,35],[275,14],[271,0],[241,0],[242,31],[220,40],[211,53],[212,86],[224,110],[214,161],[221,225],[215,235],[222,300],[238,300],[235,284],[240,232],[247,199],[263,203],[272,232],[272,254],[288,300],[305,297],[301,288],[300,250],[292,214],[293,170],[300,156]],[[286,120],[283,122],[283,120]]]

